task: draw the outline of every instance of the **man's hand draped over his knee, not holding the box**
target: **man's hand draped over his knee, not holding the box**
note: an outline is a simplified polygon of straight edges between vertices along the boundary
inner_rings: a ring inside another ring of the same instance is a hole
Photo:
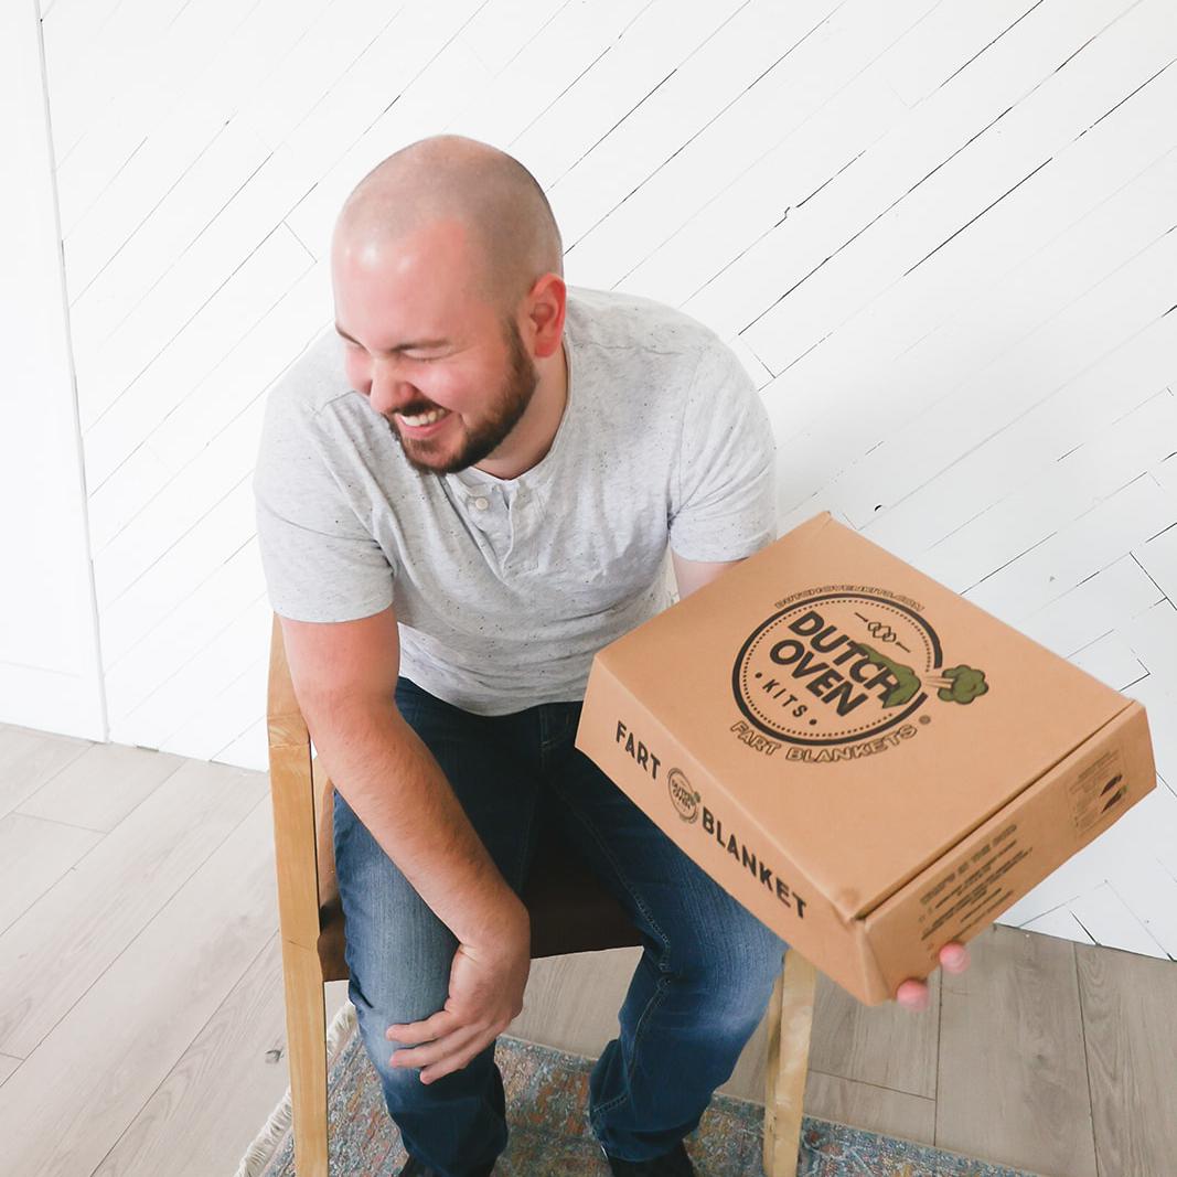
[[[458,944],[443,1009],[421,1022],[388,1026],[387,1039],[414,1048],[394,1051],[390,1062],[421,1068],[421,1083],[460,1071],[523,1012],[530,971],[531,917],[520,903],[494,936]]]

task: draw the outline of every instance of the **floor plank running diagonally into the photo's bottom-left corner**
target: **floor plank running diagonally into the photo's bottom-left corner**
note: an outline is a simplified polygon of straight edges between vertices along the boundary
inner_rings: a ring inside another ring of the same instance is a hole
[[[222,1008],[274,933],[272,829],[262,797],[9,1076],[8,1172],[92,1173]]]

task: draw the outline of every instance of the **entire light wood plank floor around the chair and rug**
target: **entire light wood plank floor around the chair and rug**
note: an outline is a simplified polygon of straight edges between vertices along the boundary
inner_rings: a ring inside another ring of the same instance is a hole
[[[638,949],[537,960],[596,1057]],[[1177,1173],[1177,966],[992,927],[916,1013],[819,978],[806,1111],[1050,1177]],[[0,725],[0,1173],[231,1177],[284,1095],[264,773]],[[346,983],[328,986],[328,1019]],[[722,1091],[763,1100],[764,1026]]]

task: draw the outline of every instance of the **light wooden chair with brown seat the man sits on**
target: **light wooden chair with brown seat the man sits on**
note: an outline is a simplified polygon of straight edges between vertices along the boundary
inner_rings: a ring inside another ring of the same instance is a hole
[[[299,1177],[327,1177],[327,1025],[324,985],[348,977],[335,884],[334,787],[311,738],[273,618],[267,701],[270,790],[282,940],[294,1159]],[[523,893],[533,959],[640,945],[624,909],[550,831]],[[769,1006],[764,1171],[796,1177],[813,1017],[813,966],[790,947]]]

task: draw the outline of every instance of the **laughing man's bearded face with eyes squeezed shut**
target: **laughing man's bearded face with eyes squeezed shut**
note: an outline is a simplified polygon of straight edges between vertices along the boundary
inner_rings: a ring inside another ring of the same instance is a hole
[[[410,464],[447,474],[490,457],[539,384],[516,321],[468,280],[459,226],[430,226],[395,250],[335,251],[335,324],[348,383],[388,424]],[[412,346],[406,346],[412,345]],[[404,418],[444,410],[435,424]]]

